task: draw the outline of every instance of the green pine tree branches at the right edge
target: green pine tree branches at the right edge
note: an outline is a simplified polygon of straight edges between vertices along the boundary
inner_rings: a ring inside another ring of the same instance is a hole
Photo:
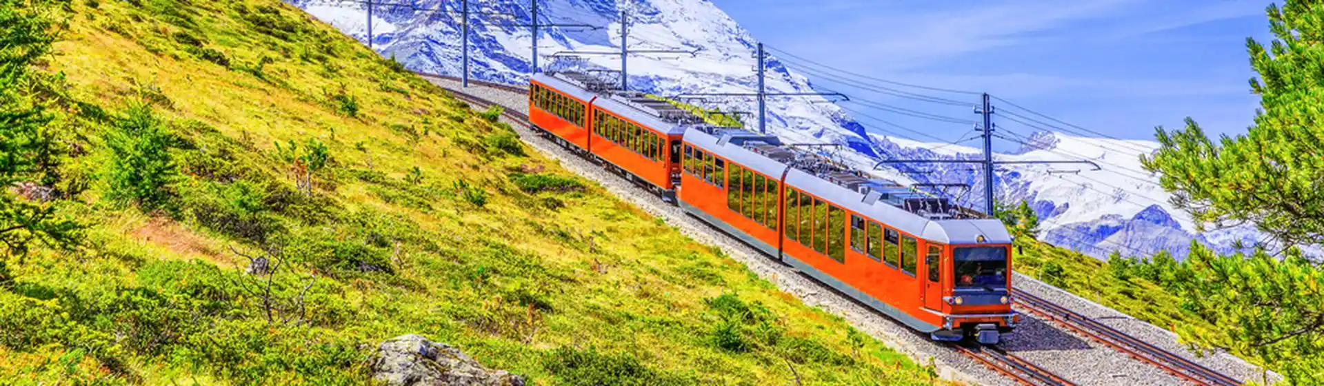
[[[1180,328],[1186,341],[1250,357],[1294,383],[1317,385],[1324,382],[1324,271],[1296,246],[1324,245],[1324,4],[1287,1],[1267,13],[1274,41],[1246,44],[1259,74],[1250,87],[1260,95],[1249,132],[1215,144],[1188,118],[1182,130],[1157,128],[1161,148],[1141,163],[1197,223],[1250,223],[1275,239],[1274,249],[1219,256],[1193,242],[1180,267],[1162,256],[1151,264],[1184,308],[1214,325]]]

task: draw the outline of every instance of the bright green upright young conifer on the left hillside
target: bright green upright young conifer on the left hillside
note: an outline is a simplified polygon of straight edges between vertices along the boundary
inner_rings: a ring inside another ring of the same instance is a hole
[[[156,209],[171,196],[166,186],[177,171],[169,155],[173,137],[144,104],[130,107],[106,135],[111,151],[106,165],[107,198]]]

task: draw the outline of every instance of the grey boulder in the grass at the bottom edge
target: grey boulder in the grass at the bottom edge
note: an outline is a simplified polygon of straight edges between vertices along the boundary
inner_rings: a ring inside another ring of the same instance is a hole
[[[523,377],[483,367],[459,349],[418,334],[381,342],[372,378],[391,385],[524,386]]]

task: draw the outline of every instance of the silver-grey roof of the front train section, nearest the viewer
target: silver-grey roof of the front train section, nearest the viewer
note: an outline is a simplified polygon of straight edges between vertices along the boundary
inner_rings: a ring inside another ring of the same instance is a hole
[[[782,143],[777,136],[745,130],[691,128],[691,145],[720,155],[748,169],[782,177],[788,186],[831,201],[908,234],[941,243],[1006,243],[998,219],[952,205],[943,197],[916,192],[891,180],[835,163],[816,152]]]

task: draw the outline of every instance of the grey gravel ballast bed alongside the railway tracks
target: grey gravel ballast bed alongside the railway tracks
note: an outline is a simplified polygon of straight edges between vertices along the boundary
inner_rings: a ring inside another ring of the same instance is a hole
[[[459,90],[465,94],[499,103],[512,111],[528,112],[527,96],[520,93],[474,86],[473,83],[470,87],[462,89],[458,81],[432,77],[426,79],[445,89]],[[506,118],[503,116],[502,119]],[[775,283],[780,290],[797,296],[805,304],[842,316],[859,330],[883,341],[898,352],[908,354],[919,364],[932,361],[943,378],[978,385],[1016,385],[1012,379],[976,364],[956,353],[949,346],[931,341],[927,334],[916,333],[900,323],[797,272],[792,267],[757,252],[707,223],[686,215],[679,208],[662,202],[655,194],[535,135],[523,126],[524,123],[508,123],[516,128],[527,144],[551,159],[560,160],[561,167],[597,181],[612,194],[637,205],[653,215],[666,219],[695,241],[720,247],[726,254],[744,263],[760,278]],[[1079,297],[1072,300],[1070,297],[1074,297],[1074,295],[1021,275],[1017,275],[1013,280],[1013,284],[1019,291],[1038,295],[1082,315],[1095,317],[1110,316],[1108,312],[1111,312],[1113,319],[1103,319],[1102,321],[1123,332],[1135,334],[1137,338],[1155,342],[1160,348],[1173,352],[1178,352],[1176,349],[1181,348],[1181,345],[1176,344],[1176,336],[1170,332],[1137,323],[1133,319],[1128,321],[1125,316],[1116,311],[1092,303],[1084,304],[1083,299]],[[1006,340],[1001,346],[1006,352],[1078,385],[1189,385],[1155,366],[1076,336],[1057,324],[1041,321],[1027,312],[1021,312],[1021,320],[1022,323],[1017,327],[1016,336]],[[1258,369],[1235,357],[1215,354],[1196,358],[1184,349],[1180,353],[1238,379],[1249,379],[1253,374],[1254,379],[1259,379]]]

